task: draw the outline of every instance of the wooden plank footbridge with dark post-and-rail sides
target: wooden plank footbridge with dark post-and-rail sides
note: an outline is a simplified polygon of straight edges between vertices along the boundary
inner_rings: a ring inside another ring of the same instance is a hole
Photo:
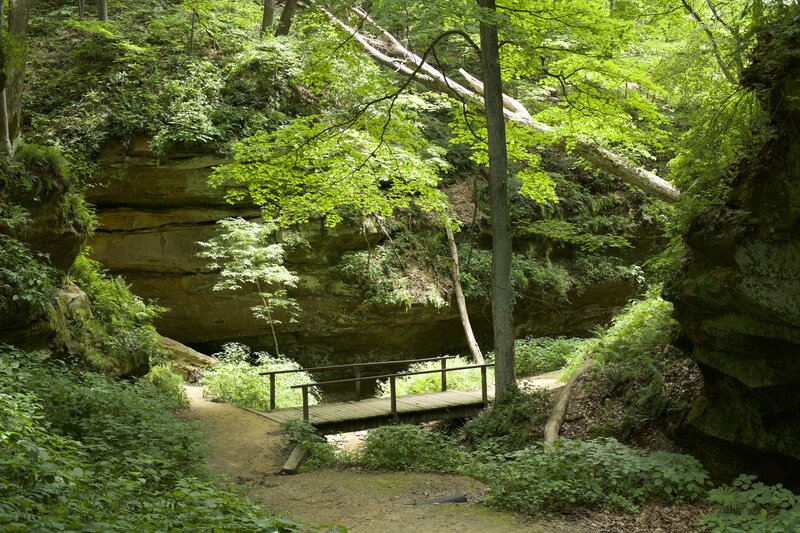
[[[386,424],[419,424],[433,420],[448,420],[453,418],[463,418],[474,415],[489,403],[491,398],[487,383],[487,368],[494,366],[493,363],[480,365],[467,365],[460,367],[447,367],[447,361],[454,356],[434,357],[430,359],[417,359],[409,361],[381,361],[375,363],[355,363],[350,365],[336,365],[317,368],[306,368],[303,370],[278,370],[274,372],[264,372],[263,375],[269,376],[270,382],[270,410],[258,411],[258,414],[265,416],[276,422],[287,422],[289,420],[306,420],[315,426],[322,433],[337,433],[343,431],[357,431],[370,429]],[[377,376],[364,376],[363,371],[370,367],[386,368],[390,365],[412,364],[420,362],[439,361],[441,368],[436,370],[423,370],[418,372],[397,372],[394,374],[384,374]],[[448,390],[447,375],[451,372],[459,372],[470,369],[480,369],[481,372],[481,391],[462,392]],[[353,371],[355,377],[348,379],[336,379],[321,381],[317,383],[305,383],[295,385],[292,388],[302,389],[302,407],[290,407],[275,409],[275,386],[276,381],[282,374],[293,372],[330,372],[330,371]],[[441,374],[442,387],[439,392],[428,392],[424,394],[413,394],[398,396],[396,381],[397,378],[404,376],[415,376],[422,374]],[[361,384],[364,381],[388,380],[388,398],[369,398],[361,400]],[[347,385],[352,384],[356,393],[355,401],[324,403],[319,405],[309,405],[309,389],[324,385]]]

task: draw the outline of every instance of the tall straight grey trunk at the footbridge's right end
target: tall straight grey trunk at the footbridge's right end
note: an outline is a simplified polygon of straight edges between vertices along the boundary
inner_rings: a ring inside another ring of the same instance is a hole
[[[478,0],[495,12],[495,0]],[[516,387],[514,316],[511,292],[511,232],[508,210],[508,154],[500,80],[497,25],[481,21],[481,65],[489,152],[489,199],[492,216],[492,325],[494,326],[495,401],[503,403]]]

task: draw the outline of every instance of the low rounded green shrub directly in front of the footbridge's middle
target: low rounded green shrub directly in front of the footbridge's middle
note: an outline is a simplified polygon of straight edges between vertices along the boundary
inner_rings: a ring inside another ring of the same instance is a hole
[[[352,459],[370,470],[457,472],[467,455],[452,437],[402,424],[371,430]]]

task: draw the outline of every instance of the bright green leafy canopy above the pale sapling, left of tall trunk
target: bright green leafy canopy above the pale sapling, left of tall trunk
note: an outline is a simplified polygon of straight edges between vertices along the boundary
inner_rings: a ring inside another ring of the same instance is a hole
[[[244,184],[249,199],[282,224],[322,219],[335,226],[348,215],[390,217],[412,202],[444,211],[437,185],[446,163],[426,143],[409,145],[412,120],[389,123],[377,109],[353,124],[324,117],[297,119],[274,133],[238,143],[235,162],[220,167],[213,183]],[[236,190],[229,193],[235,199],[241,196]]]

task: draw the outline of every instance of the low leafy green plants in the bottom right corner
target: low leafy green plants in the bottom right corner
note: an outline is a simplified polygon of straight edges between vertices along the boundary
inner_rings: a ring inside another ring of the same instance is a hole
[[[756,483],[741,475],[730,485],[708,491],[708,501],[723,510],[700,518],[711,533],[790,533],[800,531],[800,496],[782,485]]]

